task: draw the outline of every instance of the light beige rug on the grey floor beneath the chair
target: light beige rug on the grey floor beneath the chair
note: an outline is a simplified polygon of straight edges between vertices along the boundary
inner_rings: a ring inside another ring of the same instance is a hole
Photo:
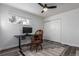
[[[46,48],[38,52],[27,50],[26,52],[24,52],[24,54],[26,56],[60,56],[63,54],[64,51],[65,51],[64,47],[58,47],[58,48]]]

